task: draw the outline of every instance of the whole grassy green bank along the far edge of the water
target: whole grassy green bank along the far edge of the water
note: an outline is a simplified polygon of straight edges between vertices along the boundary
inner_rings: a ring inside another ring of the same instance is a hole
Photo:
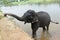
[[[7,1],[4,2],[5,6],[12,5],[25,5],[25,4],[51,4],[51,3],[60,3],[60,0],[21,0],[21,1]]]

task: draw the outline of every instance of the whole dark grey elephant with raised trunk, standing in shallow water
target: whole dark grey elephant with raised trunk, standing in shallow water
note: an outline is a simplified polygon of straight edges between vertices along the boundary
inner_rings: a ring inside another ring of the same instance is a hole
[[[36,31],[39,27],[43,28],[43,31],[47,29],[49,30],[49,24],[51,21],[51,18],[47,12],[40,11],[40,12],[35,12],[34,10],[28,10],[27,12],[24,13],[22,17],[18,17],[17,15],[14,14],[7,14],[5,13],[4,16],[13,16],[19,21],[24,21],[26,23],[31,23],[31,28],[32,28],[32,37],[36,36]],[[58,22],[53,22],[58,24]],[[46,27],[46,28],[45,28]]]

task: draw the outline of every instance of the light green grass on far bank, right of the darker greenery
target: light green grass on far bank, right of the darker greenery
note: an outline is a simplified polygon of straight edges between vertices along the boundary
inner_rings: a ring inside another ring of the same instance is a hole
[[[60,1],[56,1],[56,0],[28,0],[28,1],[21,1],[21,2],[12,2],[12,4],[49,4],[49,3],[56,3],[56,2],[60,2]]]

